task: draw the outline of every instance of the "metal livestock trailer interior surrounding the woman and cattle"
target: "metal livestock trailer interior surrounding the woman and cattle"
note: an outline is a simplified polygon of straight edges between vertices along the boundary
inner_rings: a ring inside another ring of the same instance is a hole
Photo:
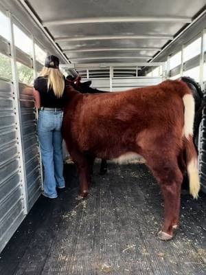
[[[195,201],[182,191],[181,226],[163,242],[160,189],[141,158],[108,162],[105,175],[97,160],[90,195],[78,201],[78,173],[64,146],[66,190],[54,200],[41,195],[33,98],[50,54],[65,77],[100,90],[190,76],[204,95],[205,4],[0,1],[0,274],[206,274],[205,107],[195,137],[201,192]]]

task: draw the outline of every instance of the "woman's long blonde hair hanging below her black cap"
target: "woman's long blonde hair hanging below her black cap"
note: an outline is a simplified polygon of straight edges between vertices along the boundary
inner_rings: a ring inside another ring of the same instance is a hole
[[[39,76],[48,77],[48,89],[53,89],[57,98],[61,98],[65,89],[65,79],[60,69],[43,67]]]

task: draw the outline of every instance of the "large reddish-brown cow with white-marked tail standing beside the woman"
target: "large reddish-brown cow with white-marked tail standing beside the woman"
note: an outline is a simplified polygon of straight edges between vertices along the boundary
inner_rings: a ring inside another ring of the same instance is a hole
[[[163,194],[165,219],[159,239],[172,239],[179,225],[185,166],[194,198],[200,188],[193,123],[194,98],[181,80],[94,95],[80,94],[68,84],[62,131],[78,167],[80,197],[88,194],[95,157],[128,159],[141,155]]]

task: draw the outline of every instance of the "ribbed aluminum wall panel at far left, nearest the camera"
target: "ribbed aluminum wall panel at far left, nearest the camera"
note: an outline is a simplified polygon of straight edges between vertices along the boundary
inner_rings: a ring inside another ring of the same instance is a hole
[[[24,218],[12,84],[0,80],[0,251]]]

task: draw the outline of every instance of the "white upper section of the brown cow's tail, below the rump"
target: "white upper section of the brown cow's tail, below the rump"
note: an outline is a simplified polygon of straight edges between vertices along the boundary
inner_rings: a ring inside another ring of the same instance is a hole
[[[183,96],[183,103],[185,106],[184,114],[184,133],[188,139],[189,135],[193,135],[193,124],[194,124],[194,98],[192,94],[186,94]]]

